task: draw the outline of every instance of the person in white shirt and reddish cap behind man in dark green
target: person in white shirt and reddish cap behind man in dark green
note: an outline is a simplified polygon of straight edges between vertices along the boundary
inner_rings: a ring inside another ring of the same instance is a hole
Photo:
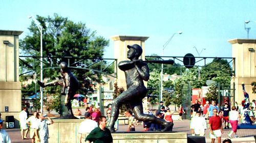
[[[79,126],[78,133],[80,134],[79,142],[82,142],[82,134],[90,133],[93,129],[98,127],[97,122],[91,120],[90,112],[84,113],[84,121]]]

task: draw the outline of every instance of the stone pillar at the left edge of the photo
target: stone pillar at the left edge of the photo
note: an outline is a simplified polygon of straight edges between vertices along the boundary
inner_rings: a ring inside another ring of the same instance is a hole
[[[22,33],[0,30],[0,112],[3,120],[14,116],[15,128],[19,127],[18,113],[22,109],[18,46],[18,36]],[[9,111],[5,111],[5,107]]]

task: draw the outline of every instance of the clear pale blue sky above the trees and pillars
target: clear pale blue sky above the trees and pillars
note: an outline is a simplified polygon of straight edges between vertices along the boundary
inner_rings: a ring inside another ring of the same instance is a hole
[[[24,31],[31,23],[28,15],[53,16],[57,13],[75,22],[81,21],[106,39],[116,35],[148,36],[145,55],[231,57],[228,40],[246,39],[245,20],[256,20],[256,1],[171,1],[171,0],[90,0],[28,1],[0,0],[0,29]],[[256,22],[250,22],[249,38],[256,38]],[[104,58],[114,58],[113,41]]]

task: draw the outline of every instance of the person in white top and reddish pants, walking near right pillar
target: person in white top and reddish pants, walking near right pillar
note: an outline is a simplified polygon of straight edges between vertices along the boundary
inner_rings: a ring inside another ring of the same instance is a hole
[[[232,134],[234,134],[235,138],[238,138],[237,129],[238,129],[238,120],[240,118],[240,115],[236,109],[237,109],[236,106],[232,106],[231,111],[229,113],[229,122],[232,127],[232,130],[228,134],[229,138],[232,138]]]

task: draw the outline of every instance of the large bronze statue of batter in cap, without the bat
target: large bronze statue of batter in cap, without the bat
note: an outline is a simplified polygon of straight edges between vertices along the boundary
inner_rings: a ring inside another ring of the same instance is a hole
[[[135,119],[143,122],[153,122],[165,126],[163,131],[172,130],[173,123],[165,122],[163,119],[156,118],[152,115],[143,113],[142,99],[147,95],[147,89],[143,80],[147,81],[150,78],[150,70],[146,63],[143,63],[139,56],[142,53],[142,48],[138,44],[128,45],[127,58],[131,61],[121,61],[118,68],[124,71],[126,78],[127,90],[114,99],[111,108],[111,119],[109,128],[112,132],[115,131],[115,121],[119,115],[119,107],[122,104],[129,103],[134,112]]]

